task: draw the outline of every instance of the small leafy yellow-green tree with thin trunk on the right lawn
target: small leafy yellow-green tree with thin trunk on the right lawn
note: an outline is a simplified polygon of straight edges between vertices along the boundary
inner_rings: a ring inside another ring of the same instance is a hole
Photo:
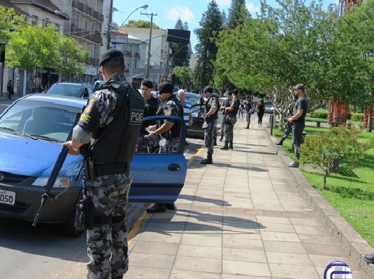
[[[351,170],[354,163],[363,159],[366,151],[374,144],[370,139],[358,142],[361,130],[339,126],[331,128],[325,133],[308,135],[300,146],[301,162],[309,162],[321,167],[324,172],[323,188],[326,188],[326,179],[334,171],[334,162],[339,160],[339,166]]]

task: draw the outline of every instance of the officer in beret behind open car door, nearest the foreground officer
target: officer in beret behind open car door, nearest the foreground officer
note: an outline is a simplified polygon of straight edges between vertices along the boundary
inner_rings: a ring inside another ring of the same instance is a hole
[[[141,84],[142,95],[145,98],[145,108],[143,117],[156,115],[159,108],[159,98],[152,96],[153,83],[149,79],[145,79]],[[159,138],[151,139],[145,130],[147,126],[155,125],[155,120],[143,121],[140,129],[138,143],[136,144],[136,153],[157,153],[159,146]]]

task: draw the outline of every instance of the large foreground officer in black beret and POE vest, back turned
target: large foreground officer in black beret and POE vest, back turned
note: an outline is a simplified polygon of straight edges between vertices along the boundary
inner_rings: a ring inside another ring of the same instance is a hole
[[[84,192],[94,216],[87,230],[87,278],[122,279],[128,271],[130,162],[145,100],[127,83],[123,54],[118,49],[104,52],[99,66],[104,84],[88,97],[71,141],[62,145],[69,154],[85,158]]]

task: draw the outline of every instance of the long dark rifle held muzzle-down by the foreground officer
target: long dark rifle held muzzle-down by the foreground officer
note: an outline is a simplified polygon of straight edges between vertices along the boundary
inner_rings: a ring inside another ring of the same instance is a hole
[[[83,110],[82,110],[83,111]],[[76,113],[76,119],[74,120],[73,126],[71,127],[71,130],[68,133],[68,137],[66,138],[66,141],[70,141],[71,137],[73,136],[73,129],[78,124],[79,118],[80,118],[81,112]],[[66,146],[63,146],[59,156],[57,157],[56,162],[54,163],[54,167],[52,169],[51,175],[49,175],[47,184],[43,186],[44,188],[44,194],[42,194],[42,203],[40,204],[39,210],[37,210],[37,215],[35,215],[34,222],[32,222],[32,225],[35,227],[37,225],[37,221],[40,218],[40,213],[42,212],[42,208],[44,207],[44,203],[47,201],[47,198],[51,198],[53,201],[56,196],[51,193],[52,187],[54,183],[56,182],[57,177],[59,177],[59,173],[61,171],[62,165],[64,165],[64,162],[66,160],[66,155],[68,155],[68,148]]]

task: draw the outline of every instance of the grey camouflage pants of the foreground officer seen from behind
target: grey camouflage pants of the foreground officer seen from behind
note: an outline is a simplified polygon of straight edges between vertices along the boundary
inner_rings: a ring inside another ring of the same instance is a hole
[[[85,183],[95,210],[104,215],[125,215],[131,174],[110,174]],[[128,226],[126,218],[112,225],[100,225],[87,230],[88,279],[109,279],[128,270]]]

